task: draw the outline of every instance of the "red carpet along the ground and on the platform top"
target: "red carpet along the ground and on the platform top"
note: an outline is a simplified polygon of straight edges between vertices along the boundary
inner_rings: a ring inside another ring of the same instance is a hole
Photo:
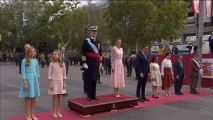
[[[138,108],[155,106],[155,105],[165,104],[165,103],[170,103],[170,102],[177,102],[177,101],[195,99],[195,98],[200,98],[200,97],[212,95],[212,93],[204,92],[204,91],[200,92],[200,94],[197,94],[197,95],[189,94],[189,92],[184,92],[184,94],[185,95],[182,95],[182,96],[177,96],[177,95],[173,95],[173,96],[170,96],[170,97],[160,96],[159,99],[153,99],[149,96],[147,98],[150,99],[151,101],[145,102],[145,103],[139,102]],[[107,95],[103,95],[103,97],[106,97],[106,96]],[[128,98],[128,97],[129,96],[123,95],[123,98]],[[100,98],[100,96],[98,96],[98,98]],[[117,99],[117,98],[113,97],[113,98],[110,98],[110,99]],[[81,104],[88,104],[87,101],[85,102],[85,100],[83,100],[82,98],[77,98],[77,100],[81,101],[82,102]],[[107,100],[109,100],[109,98],[107,98]],[[102,101],[107,101],[107,100],[103,99]],[[93,102],[97,103],[97,102],[100,102],[100,100],[91,101],[91,104],[94,104]],[[133,109],[135,109],[135,108],[119,109],[117,112],[123,112],[123,111],[128,111],[128,110],[133,110]],[[117,112],[103,112],[103,113],[94,114],[91,117],[95,118],[95,117],[100,117],[100,116],[103,116],[103,115],[113,114],[113,113],[117,113]],[[76,113],[76,112],[71,111],[69,109],[62,110],[62,115],[63,115],[63,118],[60,118],[60,119],[58,118],[57,120],[86,120],[86,118],[81,117],[79,115],[79,113]],[[55,118],[51,117],[51,112],[38,113],[38,114],[36,114],[36,116],[39,118],[39,120],[56,120]],[[5,120],[25,120],[25,117],[24,116],[14,117],[14,118],[9,118],[9,119],[5,119]]]

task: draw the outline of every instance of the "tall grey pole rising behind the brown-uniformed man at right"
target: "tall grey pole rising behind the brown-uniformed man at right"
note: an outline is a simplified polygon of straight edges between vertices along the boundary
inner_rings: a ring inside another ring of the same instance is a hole
[[[198,35],[197,35],[197,44],[199,52],[199,61],[202,63],[202,42],[203,42],[203,17],[204,17],[204,0],[200,0],[200,14],[198,20]],[[201,87],[202,76],[199,76],[198,87]]]

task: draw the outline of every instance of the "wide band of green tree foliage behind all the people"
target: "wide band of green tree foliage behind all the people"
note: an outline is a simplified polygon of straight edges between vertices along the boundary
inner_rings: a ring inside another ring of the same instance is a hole
[[[98,39],[103,48],[109,41],[122,39],[124,49],[135,44],[150,44],[179,36],[187,19],[187,3],[177,0],[108,0],[107,6],[78,7],[79,2],[3,3],[0,6],[0,49],[23,48],[32,44],[40,51],[61,43],[68,49],[80,50],[89,36],[88,28],[98,26]]]

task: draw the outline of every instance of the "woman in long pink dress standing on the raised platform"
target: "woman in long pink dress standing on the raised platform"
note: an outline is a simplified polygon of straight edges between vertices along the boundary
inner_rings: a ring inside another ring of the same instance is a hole
[[[120,97],[120,88],[125,86],[124,68],[123,68],[123,49],[121,48],[121,39],[116,39],[116,45],[111,53],[111,86],[114,87],[114,94]]]

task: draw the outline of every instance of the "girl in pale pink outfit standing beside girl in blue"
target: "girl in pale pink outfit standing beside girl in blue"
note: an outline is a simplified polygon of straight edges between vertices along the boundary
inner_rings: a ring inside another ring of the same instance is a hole
[[[53,95],[52,105],[53,113],[52,117],[61,118],[60,114],[62,94],[66,93],[66,68],[64,62],[61,60],[60,52],[58,50],[53,51],[52,62],[50,62],[48,70],[49,79],[49,95]]]

